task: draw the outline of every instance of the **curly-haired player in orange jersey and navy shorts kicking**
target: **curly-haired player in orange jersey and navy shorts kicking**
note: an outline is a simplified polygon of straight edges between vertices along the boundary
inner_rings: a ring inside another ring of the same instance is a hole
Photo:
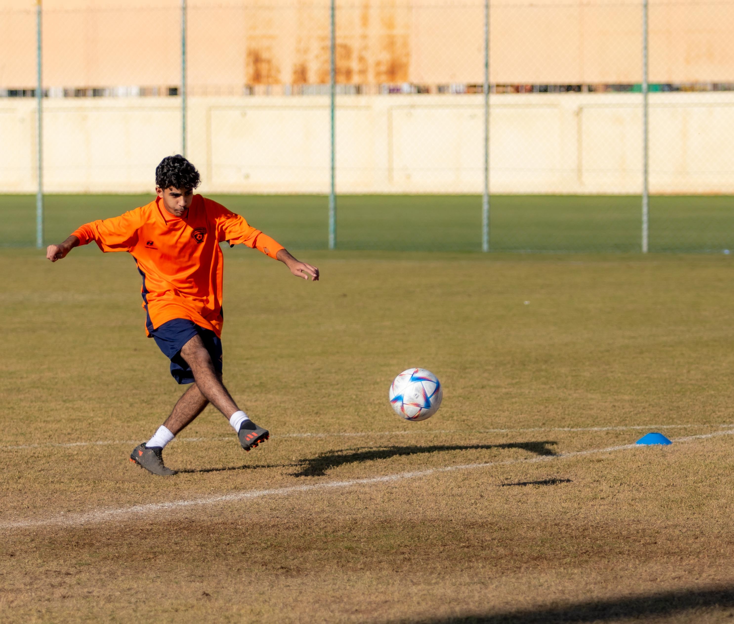
[[[120,217],[81,226],[60,245],[48,245],[51,262],[92,240],[102,251],[128,251],[142,276],[148,337],[171,361],[171,375],[183,392],[171,415],[131,456],[155,475],[175,474],[163,463],[163,449],[208,405],[222,412],[245,451],[270,437],[239,409],[222,384],[222,265],[219,243],[244,243],[283,262],[297,277],[319,279],[319,269],[299,262],[240,215],[200,195],[199,172],[183,156],[164,158],[156,168],[155,201]]]

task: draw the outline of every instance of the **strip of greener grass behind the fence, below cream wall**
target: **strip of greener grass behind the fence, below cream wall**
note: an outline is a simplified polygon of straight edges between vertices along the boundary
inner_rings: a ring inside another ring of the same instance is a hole
[[[321,196],[212,196],[288,247],[327,247]],[[81,223],[118,215],[150,196],[47,196],[46,243]],[[639,251],[637,196],[493,196],[495,251]],[[476,196],[342,196],[338,246],[344,250],[479,251]],[[35,198],[0,196],[3,245],[35,240]],[[650,250],[721,252],[734,248],[734,204],[727,196],[650,199]]]

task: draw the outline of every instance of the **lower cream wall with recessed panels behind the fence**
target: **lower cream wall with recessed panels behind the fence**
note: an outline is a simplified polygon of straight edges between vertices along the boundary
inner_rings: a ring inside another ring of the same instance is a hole
[[[494,193],[639,193],[640,96],[491,100]],[[189,157],[203,190],[327,193],[328,100],[191,98]],[[479,193],[482,96],[340,96],[339,193]],[[177,98],[46,101],[46,190],[150,190],[180,150]],[[35,190],[34,103],[0,100],[0,189]],[[734,193],[734,93],[650,96],[653,193]]]

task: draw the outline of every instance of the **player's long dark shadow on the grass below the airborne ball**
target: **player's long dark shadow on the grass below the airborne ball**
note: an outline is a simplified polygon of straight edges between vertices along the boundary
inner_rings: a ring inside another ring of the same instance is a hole
[[[417,455],[419,453],[440,453],[442,451],[469,451],[472,449],[489,448],[520,448],[536,455],[555,455],[550,445],[553,440],[542,440],[541,442],[507,442],[506,444],[434,444],[430,446],[380,446],[370,448],[345,448],[340,451],[327,451],[316,457],[303,459],[303,466],[296,477],[322,477],[327,470],[343,466],[344,464],[356,464],[360,462],[373,462],[375,459],[389,459],[406,455]]]

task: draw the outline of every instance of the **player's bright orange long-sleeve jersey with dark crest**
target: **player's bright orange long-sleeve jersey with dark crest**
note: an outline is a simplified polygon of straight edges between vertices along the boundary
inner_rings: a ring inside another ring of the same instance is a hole
[[[216,201],[195,195],[178,218],[156,198],[111,219],[92,221],[73,235],[102,251],[128,251],[142,275],[145,328],[150,332],[174,318],[187,318],[222,335],[222,268],[219,243],[244,243],[275,258],[283,249],[271,237]]]

